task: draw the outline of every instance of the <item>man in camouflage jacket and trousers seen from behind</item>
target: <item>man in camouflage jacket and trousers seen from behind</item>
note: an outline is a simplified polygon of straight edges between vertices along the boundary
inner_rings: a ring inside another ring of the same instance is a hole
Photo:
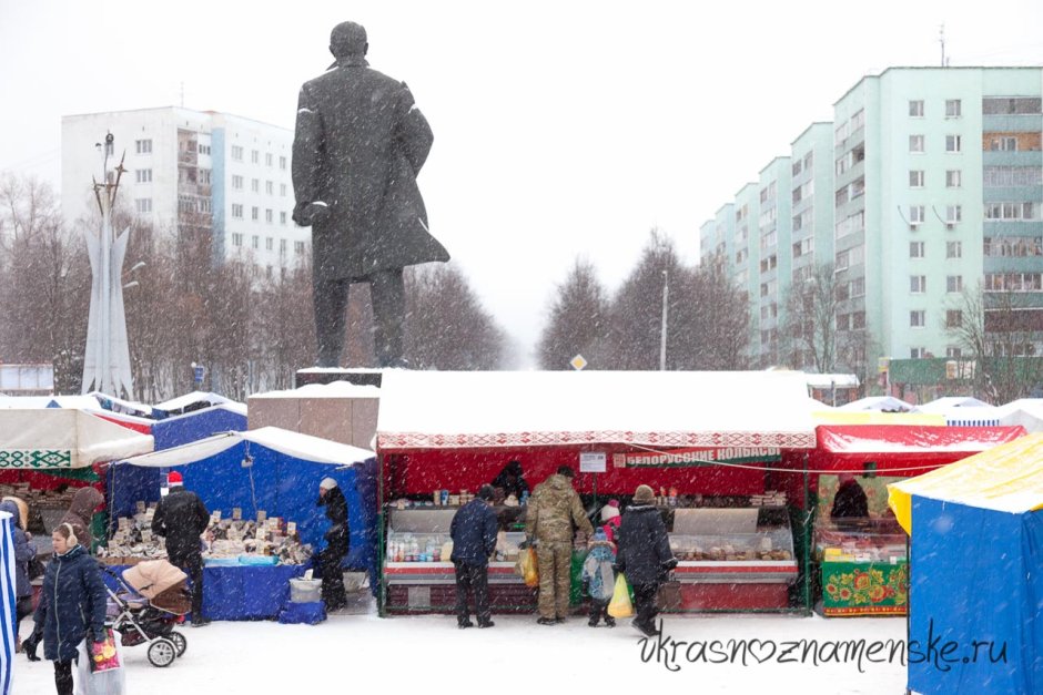
[[[590,535],[594,528],[587,519],[579,494],[573,489],[576,473],[568,466],[547,478],[533,491],[525,512],[525,533],[536,545],[539,570],[540,625],[554,625],[568,615],[569,573],[573,556],[573,524]]]

